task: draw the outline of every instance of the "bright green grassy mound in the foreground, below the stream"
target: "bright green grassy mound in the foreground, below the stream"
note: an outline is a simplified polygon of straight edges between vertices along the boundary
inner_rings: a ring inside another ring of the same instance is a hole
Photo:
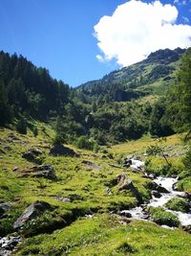
[[[154,254],[155,253],[155,254]],[[21,244],[16,255],[157,255],[189,256],[190,235],[154,223],[121,224],[117,216],[96,215]]]

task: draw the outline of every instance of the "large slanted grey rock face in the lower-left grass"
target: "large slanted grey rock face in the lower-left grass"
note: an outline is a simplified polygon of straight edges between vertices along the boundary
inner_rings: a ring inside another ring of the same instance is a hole
[[[53,207],[45,201],[35,201],[21,214],[21,216],[13,223],[13,228],[22,227],[27,221],[35,219],[42,215],[45,211],[52,211]]]

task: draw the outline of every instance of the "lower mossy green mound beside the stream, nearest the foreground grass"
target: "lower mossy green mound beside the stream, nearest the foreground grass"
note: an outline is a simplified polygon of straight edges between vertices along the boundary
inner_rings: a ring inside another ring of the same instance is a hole
[[[148,211],[152,215],[153,221],[155,221],[159,225],[180,225],[180,221],[175,214],[167,212],[161,207],[149,207]]]

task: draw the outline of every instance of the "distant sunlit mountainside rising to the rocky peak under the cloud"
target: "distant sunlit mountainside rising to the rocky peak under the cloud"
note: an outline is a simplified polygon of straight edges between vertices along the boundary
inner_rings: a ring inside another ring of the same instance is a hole
[[[116,70],[101,80],[88,81],[77,89],[87,100],[125,102],[139,97],[162,95],[175,82],[184,49],[159,50],[144,60]]]

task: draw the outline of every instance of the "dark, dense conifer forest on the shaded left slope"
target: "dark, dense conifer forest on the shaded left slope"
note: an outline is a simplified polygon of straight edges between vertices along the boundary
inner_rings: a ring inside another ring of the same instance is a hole
[[[5,105],[1,124],[18,113],[46,121],[53,112],[62,113],[69,101],[69,85],[53,80],[48,70],[36,68],[22,56],[0,53],[0,82],[1,105]]]

